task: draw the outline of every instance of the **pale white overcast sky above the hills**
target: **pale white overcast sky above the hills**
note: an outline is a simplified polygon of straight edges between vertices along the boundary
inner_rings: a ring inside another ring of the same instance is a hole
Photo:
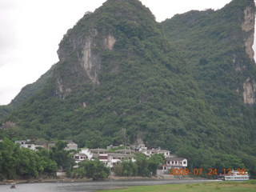
[[[86,11],[106,0],[0,0],[0,105],[58,62],[58,43]],[[231,0],[142,0],[158,22],[189,10],[214,10]]]

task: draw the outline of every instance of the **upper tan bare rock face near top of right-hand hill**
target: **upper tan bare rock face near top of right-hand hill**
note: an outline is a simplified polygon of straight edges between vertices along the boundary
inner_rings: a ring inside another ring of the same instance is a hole
[[[242,23],[242,30],[246,32],[245,46],[246,53],[251,59],[254,59],[254,50],[252,46],[254,45],[254,25],[255,25],[255,11],[253,7],[246,7],[244,10],[244,22]]]

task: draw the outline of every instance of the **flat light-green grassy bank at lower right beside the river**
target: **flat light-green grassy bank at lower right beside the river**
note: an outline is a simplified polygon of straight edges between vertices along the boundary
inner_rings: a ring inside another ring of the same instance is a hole
[[[253,192],[256,190],[255,182],[205,182],[205,183],[194,183],[194,184],[170,184],[170,185],[159,185],[159,186],[131,186],[124,190],[104,190],[104,191],[120,191],[120,192],[214,192],[214,191],[245,191]]]

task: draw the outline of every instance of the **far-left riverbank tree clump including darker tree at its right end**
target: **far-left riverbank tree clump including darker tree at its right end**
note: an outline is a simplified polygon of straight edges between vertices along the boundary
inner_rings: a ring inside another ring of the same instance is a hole
[[[56,176],[57,170],[69,173],[74,166],[74,158],[64,150],[65,147],[65,142],[57,142],[50,150],[40,148],[34,151],[20,148],[4,138],[0,142],[0,181]]]

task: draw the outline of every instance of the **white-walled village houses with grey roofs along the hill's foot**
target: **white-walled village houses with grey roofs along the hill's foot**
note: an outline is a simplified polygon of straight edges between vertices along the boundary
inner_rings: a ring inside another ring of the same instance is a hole
[[[66,140],[67,145],[65,150],[78,150],[78,145],[72,140]],[[46,143],[41,141],[31,141],[30,139],[15,141],[20,147],[28,148],[30,150],[38,150],[38,147],[50,149],[54,146],[54,142]],[[136,153],[146,154],[150,158],[153,154],[163,154],[166,158],[166,163],[162,165],[162,170],[170,170],[170,168],[185,169],[187,166],[186,158],[178,158],[176,155],[171,154],[170,150],[162,150],[160,147],[148,149],[145,144],[141,143],[137,146],[122,146],[125,149],[118,150],[120,146],[107,146],[106,149],[81,149],[78,153],[74,154],[74,160],[76,165],[74,168],[78,168],[78,163],[84,160],[94,160],[98,158],[105,166],[113,168],[123,160],[135,162]],[[111,152],[109,152],[111,151]]]

